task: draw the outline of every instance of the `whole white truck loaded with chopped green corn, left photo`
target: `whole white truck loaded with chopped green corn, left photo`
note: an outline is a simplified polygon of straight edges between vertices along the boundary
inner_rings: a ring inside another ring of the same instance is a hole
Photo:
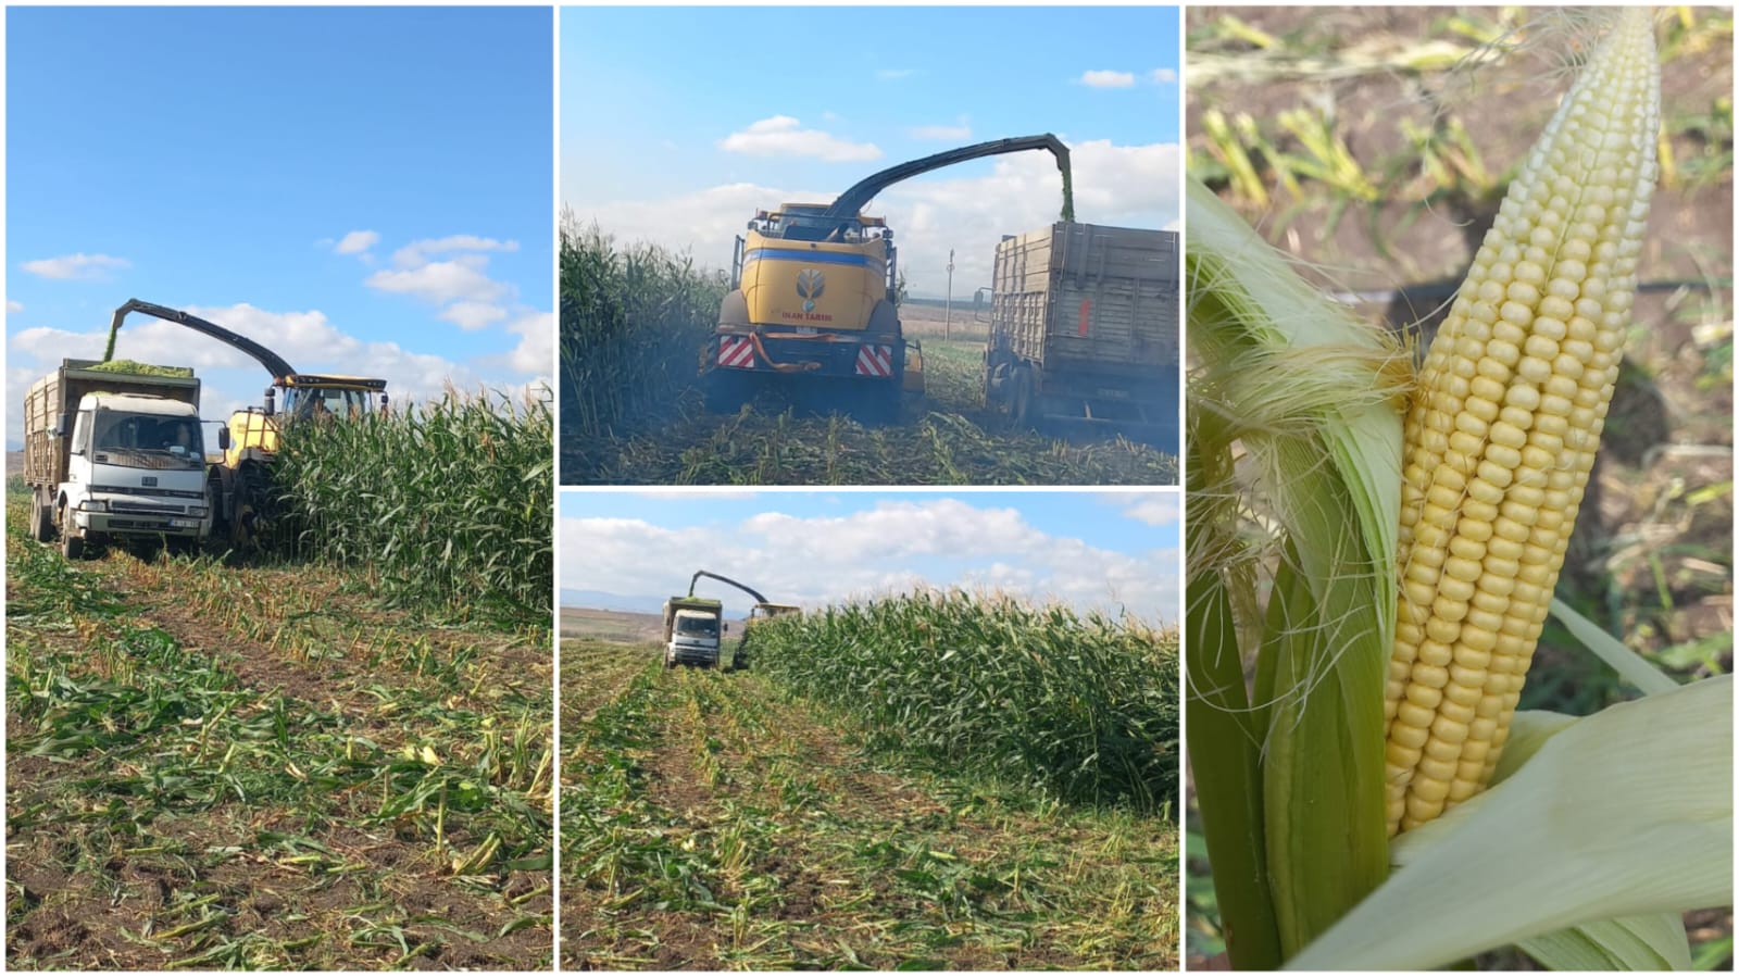
[[[111,541],[198,548],[210,532],[200,381],[63,360],[24,395],[24,482],[31,535],[59,535],[68,560]]]

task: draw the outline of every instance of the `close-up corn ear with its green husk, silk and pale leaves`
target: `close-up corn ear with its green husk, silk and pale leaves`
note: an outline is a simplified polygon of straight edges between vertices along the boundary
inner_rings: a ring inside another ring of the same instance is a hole
[[[1678,913],[1732,902],[1730,676],[1678,687],[1551,601],[1657,104],[1624,10],[1417,376],[1188,188],[1188,730],[1233,967],[1685,968]],[[1516,713],[1548,614],[1645,697]]]

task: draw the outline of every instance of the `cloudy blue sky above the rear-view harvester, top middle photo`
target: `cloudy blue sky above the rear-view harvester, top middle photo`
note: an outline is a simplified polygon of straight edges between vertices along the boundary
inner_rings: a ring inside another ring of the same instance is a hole
[[[1176,7],[569,7],[560,193],[581,221],[722,266],[756,207],[1056,132],[1078,219],[1176,226],[1177,63]],[[1049,153],[1017,153],[889,188],[871,212],[913,294],[939,296],[949,249],[956,290],[988,283],[1000,235],[1059,207]]]

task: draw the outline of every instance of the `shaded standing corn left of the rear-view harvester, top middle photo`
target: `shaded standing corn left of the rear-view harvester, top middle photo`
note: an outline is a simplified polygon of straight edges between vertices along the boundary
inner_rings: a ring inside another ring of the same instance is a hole
[[[650,243],[617,245],[572,216],[562,223],[562,429],[610,433],[668,410],[694,382],[696,358],[725,287],[694,259]]]

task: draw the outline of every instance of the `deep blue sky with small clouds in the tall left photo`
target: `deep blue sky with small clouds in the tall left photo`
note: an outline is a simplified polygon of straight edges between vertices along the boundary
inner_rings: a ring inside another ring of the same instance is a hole
[[[9,9],[9,391],[101,356],[129,297],[400,402],[548,377],[551,31],[548,9]],[[117,355],[198,369],[207,421],[268,382],[141,316]]]

